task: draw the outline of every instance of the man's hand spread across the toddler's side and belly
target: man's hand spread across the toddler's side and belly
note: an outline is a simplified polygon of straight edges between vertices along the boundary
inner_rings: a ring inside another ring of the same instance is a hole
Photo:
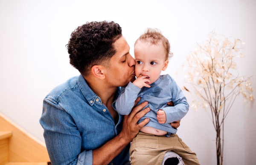
[[[139,101],[140,98],[137,98],[134,106]],[[134,107],[129,115],[125,115],[122,131],[119,134],[125,141],[130,143],[133,140],[133,138],[137,136],[140,129],[149,122],[149,118],[146,118],[145,120],[143,120],[143,122],[138,124],[140,118],[150,111],[150,108],[143,109],[147,104],[148,102],[145,101],[140,105]],[[141,109],[143,109],[143,111],[141,111]]]

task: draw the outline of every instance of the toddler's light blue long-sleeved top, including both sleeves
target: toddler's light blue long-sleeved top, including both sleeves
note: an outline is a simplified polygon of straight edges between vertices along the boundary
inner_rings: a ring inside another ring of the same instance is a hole
[[[169,123],[182,119],[188,112],[189,104],[186,97],[174,79],[168,74],[161,75],[150,86],[150,88],[142,87],[140,89],[130,82],[127,87],[122,87],[121,94],[115,103],[116,111],[121,115],[128,115],[134,106],[134,101],[137,97],[140,97],[137,105],[148,101],[148,105],[145,108],[149,107],[151,111],[144,115],[138,123],[141,123],[145,118],[149,118],[150,121],[145,126],[175,134],[177,129],[173,128]],[[174,106],[167,106],[169,101],[172,101]],[[157,111],[159,109],[164,110],[166,113],[166,123],[164,124],[160,124],[157,121]]]

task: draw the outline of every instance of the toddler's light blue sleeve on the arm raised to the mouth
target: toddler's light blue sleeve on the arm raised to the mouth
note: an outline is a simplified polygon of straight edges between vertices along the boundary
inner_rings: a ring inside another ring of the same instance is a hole
[[[116,99],[116,111],[121,115],[128,115],[131,112],[134,102],[138,97],[140,88],[129,82],[127,87],[122,87],[119,97]]]

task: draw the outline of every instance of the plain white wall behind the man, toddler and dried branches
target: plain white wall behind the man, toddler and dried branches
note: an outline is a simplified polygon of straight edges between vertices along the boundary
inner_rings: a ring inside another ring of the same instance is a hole
[[[65,45],[77,26],[90,21],[119,23],[131,46],[145,28],[159,28],[169,37],[174,57],[163,74],[182,86],[176,70],[196,42],[218,34],[246,42],[238,71],[255,75],[256,3],[253,0],[0,1],[0,112],[44,140],[39,123],[43,98],[79,75],[69,64]],[[256,78],[253,85],[256,88]],[[185,93],[189,103],[192,98]],[[254,96],[256,94],[254,92]],[[237,98],[225,122],[224,165],[256,162],[256,106]],[[190,109],[177,134],[195,151],[202,165],[216,164],[215,132],[207,112]]]

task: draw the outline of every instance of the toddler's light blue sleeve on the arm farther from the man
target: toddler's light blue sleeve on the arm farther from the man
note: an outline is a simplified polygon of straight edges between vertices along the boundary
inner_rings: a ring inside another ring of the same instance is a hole
[[[164,107],[163,110],[166,113],[166,123],[172,123],[174,121],[181,120],[189,111],[189,104],[184,96],[182,90],[171,78],[170,89],[172,92],[172,102],[174,106]]]

